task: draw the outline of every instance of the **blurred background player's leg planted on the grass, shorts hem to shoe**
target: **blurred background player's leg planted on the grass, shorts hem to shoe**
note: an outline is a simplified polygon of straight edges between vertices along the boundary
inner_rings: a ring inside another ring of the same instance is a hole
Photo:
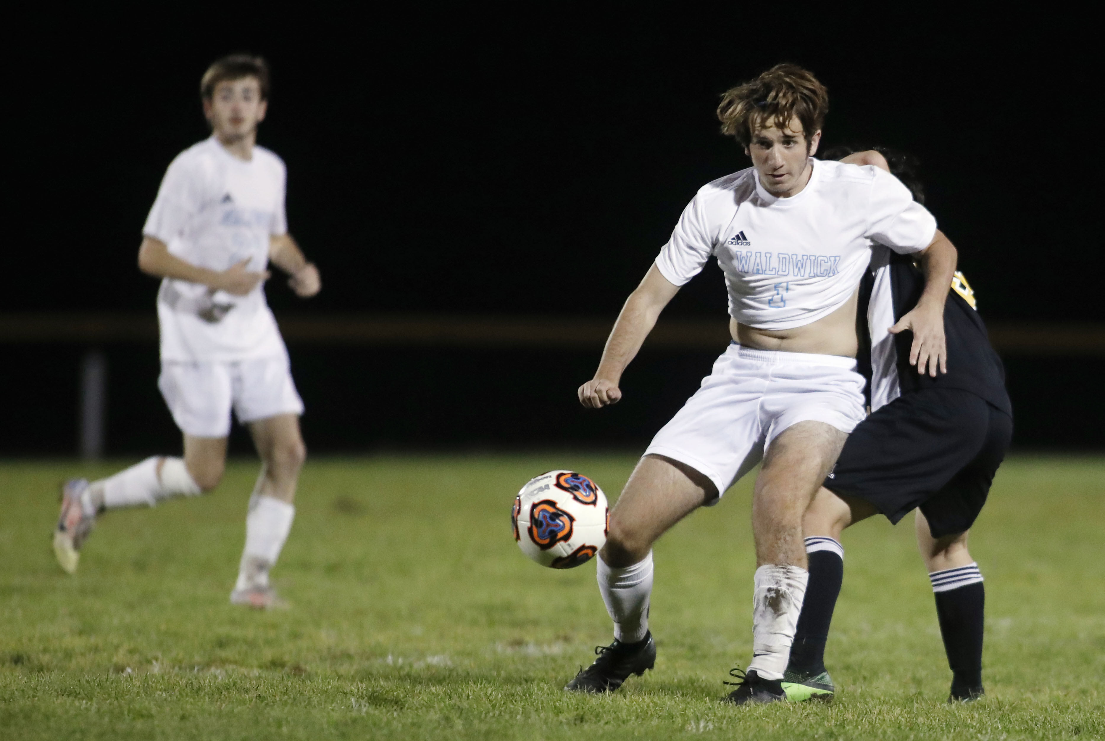
[[[278,415],[250,422],[261,456],[261,474],[245,515],[245,547],[230,602],[256,609],[282,606],[269,584],[269,572],[284,547],[295,519],[295,489],[306,447],[298,415]]]

